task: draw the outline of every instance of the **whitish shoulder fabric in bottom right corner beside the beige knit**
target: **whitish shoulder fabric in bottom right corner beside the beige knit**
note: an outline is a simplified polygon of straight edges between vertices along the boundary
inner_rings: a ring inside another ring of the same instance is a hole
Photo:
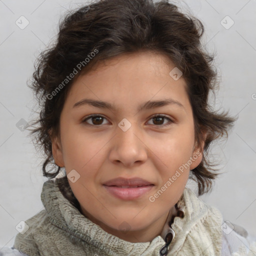
[[[221,256],[255,255],[253,253],[256,252],[256,237],[249,235],[245,228],[226,220],[221,229]]]

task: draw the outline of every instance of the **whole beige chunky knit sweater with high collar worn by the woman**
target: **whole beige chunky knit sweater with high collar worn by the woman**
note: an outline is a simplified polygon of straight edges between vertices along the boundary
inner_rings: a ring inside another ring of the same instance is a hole
[[[29,256],[159,256],[159,250],[165,244],[164,230],[152,241],[138,243],[107,233],[82,215],[63,196],[54,180],[44,182],[41,200],[45,209],[26,220],[29,229],[15,237],[14,248]],[[178,207],[184,208],[185,216],[174,218],[171,227],[176,235],[169,245],[167,256],[256,255],[256,244],[250,249],[241,247],[240,254],[221,252],[222,215],[190,189],[184,189]]]

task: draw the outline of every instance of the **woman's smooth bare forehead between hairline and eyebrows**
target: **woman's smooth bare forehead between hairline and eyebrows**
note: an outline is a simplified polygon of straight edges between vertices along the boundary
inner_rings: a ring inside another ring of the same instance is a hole
[[[84,98],[106,101],[112,107],[141,106],[148,100],[171,98],[188,103],[185,80],[174,80],[171,60],[151,51],[128,53],[100,61],[72,84],[66,104],[69,108]]]

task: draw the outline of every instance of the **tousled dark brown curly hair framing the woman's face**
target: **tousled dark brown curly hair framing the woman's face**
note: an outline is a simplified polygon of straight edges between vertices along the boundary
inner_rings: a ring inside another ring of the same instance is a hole
[[[182,13],[167,0],[99,0],[69,10],[59,21],[56,42],[37,57],[28,84],[40,106],[39,118],[28,126],[39,124],[30,135],[35,135],[35,146],[43,149],[46,156],[43,176],[54,178],[60,171],[53,159],[51,138],[59,137],[59,116],[76,77],[97,61],[150,50],[168,56],[183,73],[193,111],[195,142],[200,145],[205,139],[203,158],[191,170],[192,179],[197,181],[199,195],[208,192],[219,174],[208,159],[209,145],[217,138],[227,138],[236,119],[227,112],[214,111],[208,103],[209,92],[215,95],[219,83],[213,54],[207,53],[200,41],[203,31],[200,20]],[[89,57],[89,62],[85,57]],[[82,68],[77,68],[78,63]],[[63,84],[74,68],[78,74]],[[48,170],[47,165],[51,165]]]

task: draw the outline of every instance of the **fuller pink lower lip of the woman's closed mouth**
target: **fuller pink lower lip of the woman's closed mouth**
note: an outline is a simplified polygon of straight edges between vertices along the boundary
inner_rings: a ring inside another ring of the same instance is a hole
[[[122,200],[133,200],[139,198],[141,195],[148,192],[153,185],[131,187],[131,188],[122,188],[118,186],[107,186],[103,185],[106,190],[114,195],[115,197]]]

